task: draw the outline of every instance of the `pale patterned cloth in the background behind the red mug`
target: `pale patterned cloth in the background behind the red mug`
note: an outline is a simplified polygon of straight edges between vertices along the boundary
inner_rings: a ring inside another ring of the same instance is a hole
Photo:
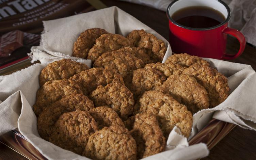
[[[150,6],[166,12],[173,0],[121,0]],[[256,0],[222,0],[231,10],[228,27],[243,33],[247,42],[256,46]]]

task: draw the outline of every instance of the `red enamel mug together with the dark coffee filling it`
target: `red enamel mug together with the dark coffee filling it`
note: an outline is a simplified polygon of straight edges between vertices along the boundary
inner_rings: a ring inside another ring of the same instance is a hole
[[[222,0],[173,0],[166,13],[169,42],[174,53],[231,60],[241,55],[245,48],[243,34],[227,27],[231,11]],[[227,34],[238,39],[237,54],[226,53]]]

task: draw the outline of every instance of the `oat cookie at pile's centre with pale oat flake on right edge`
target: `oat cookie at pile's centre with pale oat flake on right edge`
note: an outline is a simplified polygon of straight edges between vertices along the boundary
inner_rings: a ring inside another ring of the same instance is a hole
[[[108,106],[123,120],[127,119],[133,112],[133,95],[122,83],[113,81],[105,87],[99,85],[89,97],[94,102],[95,107]]]

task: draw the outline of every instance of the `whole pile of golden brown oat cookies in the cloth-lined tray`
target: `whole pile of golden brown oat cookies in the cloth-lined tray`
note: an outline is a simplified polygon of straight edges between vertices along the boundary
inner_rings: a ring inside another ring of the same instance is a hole
[[[227,78],[209,62],[175,54],[144,30],[126,37],[88,29],[73,56],[93,68],[63,59],[39,75],[33,110],[39,135],[92,159],[141,159],[165,150],[177,126],[189,137],[199,110],[215,107],[229,92]]]

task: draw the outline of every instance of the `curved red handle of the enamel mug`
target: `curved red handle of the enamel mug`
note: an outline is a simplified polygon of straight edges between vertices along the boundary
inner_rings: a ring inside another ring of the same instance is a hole
[[[225,53],[224,56],[222,57],[222,59],[232,60],[232,59],[237,58],[239,55],[241,55],[243,53],[243,50],[246,45],[244,35],[241,32],[239,32],[238,30],[235,30],[233,28],[228,28],[228,27],[224,29],[223,33],[230,34],[230,35],[233,35],[234,37],[236,37],[240,43],[240,49],[237,52],[237,54],[226,54]]]

